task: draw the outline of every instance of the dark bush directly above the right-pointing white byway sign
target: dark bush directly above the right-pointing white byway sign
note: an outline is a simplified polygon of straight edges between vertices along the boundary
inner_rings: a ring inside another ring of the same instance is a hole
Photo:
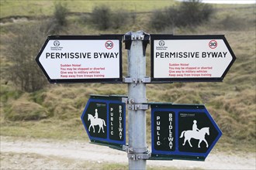
[[[157,10],[150,19],[150,26],[153,29],[165,29],[168,27],[198,26],[209,20],[213,14],[213,7],[203,4],[199,0],[182,2],[178,7],[169,7]]]

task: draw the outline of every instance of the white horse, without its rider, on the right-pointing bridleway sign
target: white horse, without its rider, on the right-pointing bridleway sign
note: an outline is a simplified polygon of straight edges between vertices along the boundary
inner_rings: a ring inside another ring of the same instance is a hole
[[[209,128],[202,128],[201,130],[199,131],[182,131],[182,134],[179,138],[183,138],[183,136],[185,137],[184,138],[184,142],[183,142],[183,145],[185,145],[185,142],[186,141],[189,141],[189,145],[192,147],[191,143],[190,143],[190,139],[191,138],[194,138],[194,139],[198,139],[199,140],[199,145],[198,145],[198,148],[200,148],[200,144],[202,141],[206,142],[206,148],[208,148],[208,143],[206,141],[206,134],[209,135]]]

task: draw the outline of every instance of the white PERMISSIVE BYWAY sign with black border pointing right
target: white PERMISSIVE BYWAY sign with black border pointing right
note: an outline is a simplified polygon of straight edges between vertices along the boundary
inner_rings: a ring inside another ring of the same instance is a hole
[[[224,36],[150,38],[152,81],[221,81],[236,59]]]

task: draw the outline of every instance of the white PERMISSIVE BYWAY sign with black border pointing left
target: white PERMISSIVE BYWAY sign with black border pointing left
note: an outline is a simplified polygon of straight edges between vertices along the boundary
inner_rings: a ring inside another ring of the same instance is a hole
[[[122,81],[120,36],[49,36],[36,57],[50,83]]]

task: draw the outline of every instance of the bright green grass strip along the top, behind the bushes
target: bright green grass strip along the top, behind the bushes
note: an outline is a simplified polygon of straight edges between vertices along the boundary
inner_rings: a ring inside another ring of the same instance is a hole
[[[25,16],[38,16],[38,15],[52,15],[54,12],[54,5],[61,1],[37,1],[37,0],[2,0],[1,6],[1,18],[10,15],[25,15]],[[146,1],[146,0],[103,0],[103,1],[65,1],[62,2],[70,8],[70,12],[92,12],[92,9],[99,5],[107,5],[112,9],[126,9],[130,12],[148,12],[152,9],[163,8],[167,5],[175,4],[174,0],[165,1]],[[29,9],[29,10],[27,10]]]

